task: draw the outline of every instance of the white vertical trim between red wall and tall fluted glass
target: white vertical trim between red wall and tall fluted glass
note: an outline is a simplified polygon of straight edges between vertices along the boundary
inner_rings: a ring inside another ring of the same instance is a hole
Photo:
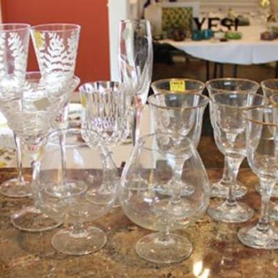
[[[111,80],[119,81],[117,69],[119,22],[129,16],[129,0],[108,0]]]

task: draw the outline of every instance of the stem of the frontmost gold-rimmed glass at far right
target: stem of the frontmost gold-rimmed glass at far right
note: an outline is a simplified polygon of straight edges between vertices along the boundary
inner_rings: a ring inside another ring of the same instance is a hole
[[[259,231],[267,231],[269,228],[269,202],[272,193],[272,188],[275,185],[275,181],[260,177],[261,183],[261,216],[257,224]]]

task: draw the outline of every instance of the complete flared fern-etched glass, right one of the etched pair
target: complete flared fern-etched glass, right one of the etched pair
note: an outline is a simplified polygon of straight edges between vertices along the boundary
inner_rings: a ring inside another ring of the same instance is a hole
[[[81,26],[40,24],[31,27],[31,37],[43,79],[68,79],[74,76]],[[56,127],[67,128],[68,102],[56,119]]]

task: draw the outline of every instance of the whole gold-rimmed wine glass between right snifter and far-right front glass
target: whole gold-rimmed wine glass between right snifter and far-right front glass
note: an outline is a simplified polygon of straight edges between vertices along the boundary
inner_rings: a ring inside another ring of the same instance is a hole
[[[243,110],[263,104],[263,96],[246,92],[218,92],[211,97],[214,139],[220,152],[226,156],[231,181],[227,199],[208,208],[208,214],[215,220],[240,223],[252,218],[252,208],[236,201],[234,186],[240,164],[246,156]]]

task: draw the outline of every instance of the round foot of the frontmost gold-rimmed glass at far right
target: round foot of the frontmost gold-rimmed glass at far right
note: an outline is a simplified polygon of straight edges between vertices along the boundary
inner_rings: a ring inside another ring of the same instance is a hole
[[[238,238],[244,244],[256,249],[278,249],[278,230],[269,227],[267,231],[259,231],[257,227],[244,227],[238,231]]]

